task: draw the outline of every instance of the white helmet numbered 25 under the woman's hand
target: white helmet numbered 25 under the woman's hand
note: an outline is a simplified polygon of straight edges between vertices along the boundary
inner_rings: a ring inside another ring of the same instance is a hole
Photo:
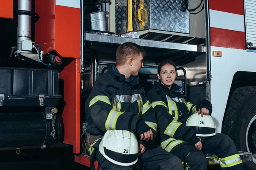
[[[216,125],[212,116],[194,113],[186,121],[186,126],[195,130],[198,137],[209,137],[216,135]]]

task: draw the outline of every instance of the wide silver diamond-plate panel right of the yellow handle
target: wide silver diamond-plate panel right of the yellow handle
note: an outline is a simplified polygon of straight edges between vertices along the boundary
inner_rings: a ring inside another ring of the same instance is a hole
[[[181,11],[182,0],[151,0],[150,28],[189,34],[189,11]]]

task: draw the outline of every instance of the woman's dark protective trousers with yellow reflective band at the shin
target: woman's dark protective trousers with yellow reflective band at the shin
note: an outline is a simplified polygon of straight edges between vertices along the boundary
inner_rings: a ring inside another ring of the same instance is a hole
[[[230,137],[217,133],[209,139],[201,141],[203,150],[185,144],[178,147],[173,154],[186,161],[186,170],[207,170],[206,154],[215,154],[218,158],[209,159],[209,164],[220,164],[222,170],[244,170],[239,153]]]

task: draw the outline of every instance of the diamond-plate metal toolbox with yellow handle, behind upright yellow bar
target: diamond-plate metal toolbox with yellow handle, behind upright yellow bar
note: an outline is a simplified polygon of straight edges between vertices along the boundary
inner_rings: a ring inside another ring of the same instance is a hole
[[[115,3],[116,34],[127,32],[127,0]],[[183,0],[132,0],[133,30],[155,29],[189,34],[189,11]]]

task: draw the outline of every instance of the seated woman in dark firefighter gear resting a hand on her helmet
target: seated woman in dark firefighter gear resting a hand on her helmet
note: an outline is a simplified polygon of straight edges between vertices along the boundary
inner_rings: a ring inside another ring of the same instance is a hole
[[[212,104],[202,100],[196,105],[186,101],[179,91],[180,86],[175,84],[176,65],[166,59],[157,69],[160,81],[154,82],[154,87],[148,91],[148,100],[157,112],[157,121],[160,129],[160,146],[184,160],[189,170],[207,170],[207,161],[204,154],[215,153],[220,161],[221,168],[228,170],[243,170],[243,164],[236,146],[230,137],[217,133],[214,136],[199,139],[195,130],[186,126],[186,121],[192,114],[211,115]]]

